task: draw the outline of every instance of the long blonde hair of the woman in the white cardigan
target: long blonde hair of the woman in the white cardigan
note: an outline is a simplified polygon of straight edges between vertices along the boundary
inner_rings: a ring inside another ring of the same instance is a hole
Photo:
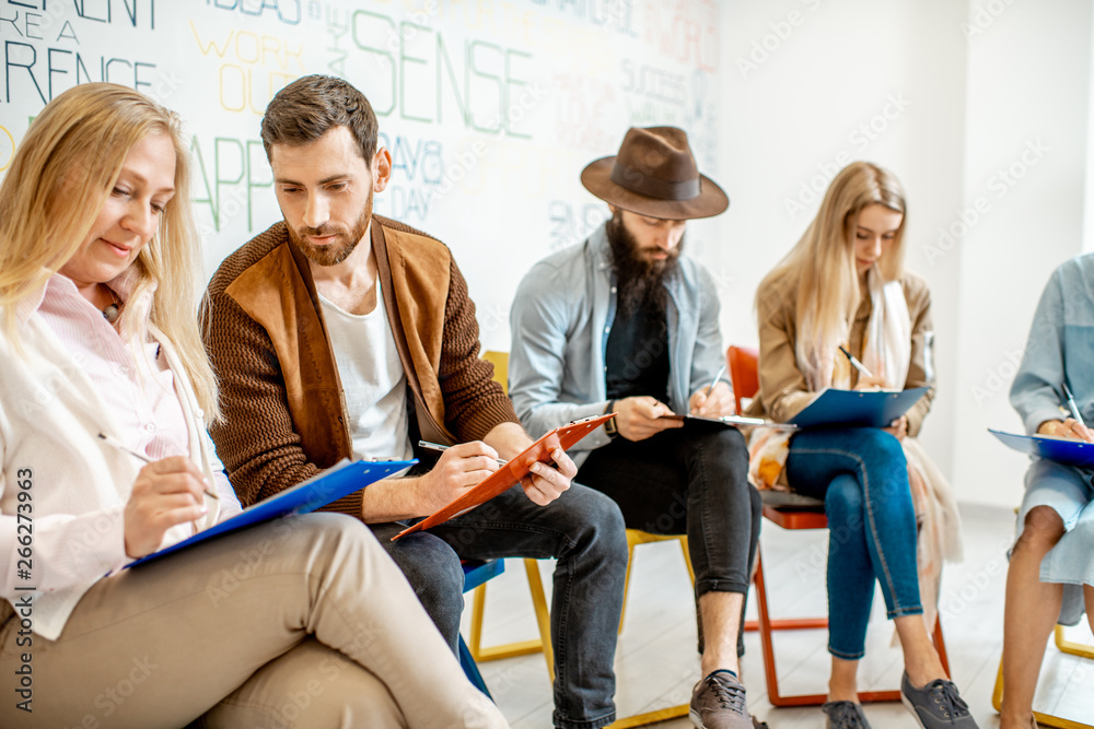
[[[197,325],[199,239],[190,209],[190,167],[178,115],[110,83],[63,92],[42,109],[0,185],[0,308],[18,344],[16,306],[79,250],[117,183],[129,151],[151,134],[175,148],[175,196],[132,268],[136,298],[155,287],[150,321],[175,345],[185,375],[210,419],[219,414],[217,380]],[[119,328],[133,341],[144,322],[123,308]]]

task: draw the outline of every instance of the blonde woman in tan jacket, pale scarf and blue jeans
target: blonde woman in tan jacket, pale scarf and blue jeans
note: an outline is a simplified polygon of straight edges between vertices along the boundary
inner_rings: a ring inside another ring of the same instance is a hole
[[[829,387],[931,388],[886,428],[759,428],[752,436],[757,486],[825,502],[828,727],[870,726],[856,678],[874,580],[904,648],[905,705],[929,729],[976,726],[929,638],[942,561],[957,558],[961,548],[950,486],[916,440],[934,393],[933,332],[927,284],[903,271],[905,212],[892,173],[851,164],[756,295],[760,390],[753,413],[785,422]],[[853,368],[840,346],[872,376]]]

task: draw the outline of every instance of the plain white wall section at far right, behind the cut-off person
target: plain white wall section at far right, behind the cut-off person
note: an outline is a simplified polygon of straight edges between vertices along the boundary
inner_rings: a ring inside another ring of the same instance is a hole
[[[1014,2],[969,43],[963,209],[987,212],[954,248],[954,478],[968,501],[1021,499],[1025,458],[985,430],[1022,432],[1008,392],[1034,308],[1052,269],[1083,250],[1091,27],[1084,0]]]

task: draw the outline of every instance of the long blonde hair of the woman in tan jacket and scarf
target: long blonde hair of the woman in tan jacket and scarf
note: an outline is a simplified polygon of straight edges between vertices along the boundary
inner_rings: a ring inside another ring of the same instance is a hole
[[[903,215],[891,246],[877,260],[883,281],[904,272],[904,230],[908,220],[904,188],[893,173],[869,162],[854,162],[828,186],[821,210],[785,258],[767,274],[759,291],[796,296],[794,353],[808,374],[824,369],[847,341],[859,307],[854,232],[859,214],[882,204]]]

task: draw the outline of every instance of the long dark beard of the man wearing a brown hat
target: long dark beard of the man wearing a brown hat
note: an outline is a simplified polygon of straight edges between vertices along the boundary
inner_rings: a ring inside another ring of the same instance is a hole
[[[628,317],[640,307],[648,311],[664,311],[668,296],[664,283],[679,264],[684,239],[680,238],[668,258],[659,261],[641,256],[638,242],[624,226],[618,213],[604,224],[604,232],[612,248],[612,266],[618,290],[616,308],[619,313]]]

